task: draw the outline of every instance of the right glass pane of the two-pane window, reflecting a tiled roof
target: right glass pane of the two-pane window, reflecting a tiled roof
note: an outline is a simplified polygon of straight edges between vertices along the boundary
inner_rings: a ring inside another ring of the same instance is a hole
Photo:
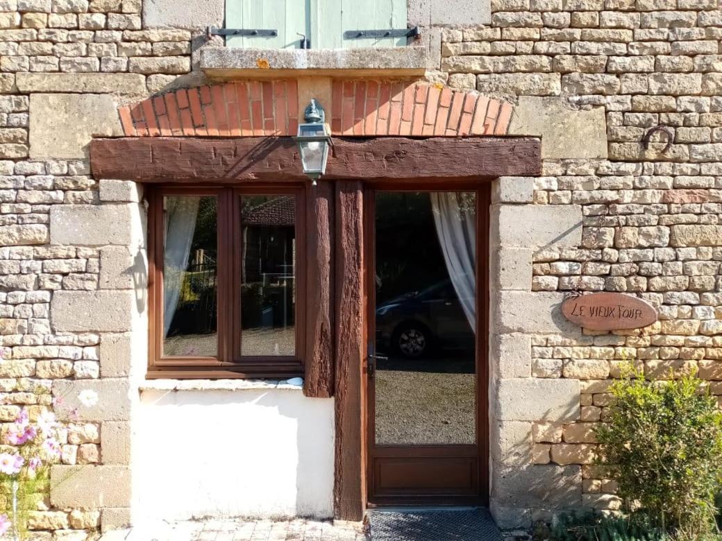
[[[249,195],[240,206],[241,355],[295,356],[295,199]]]

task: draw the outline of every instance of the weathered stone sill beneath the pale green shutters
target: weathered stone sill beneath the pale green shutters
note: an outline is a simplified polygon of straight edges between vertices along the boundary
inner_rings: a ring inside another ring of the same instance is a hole
[[[427,49],[409,45],[364,49],[247,49],[207,47],[201,69],[215,79],[245,76],[419,76],[427,66]]]

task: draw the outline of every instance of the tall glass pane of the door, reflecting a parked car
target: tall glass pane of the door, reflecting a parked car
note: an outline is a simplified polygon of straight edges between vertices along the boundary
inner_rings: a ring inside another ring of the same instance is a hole
[[[474,444],[476,194],[379,192],[375,442]]]

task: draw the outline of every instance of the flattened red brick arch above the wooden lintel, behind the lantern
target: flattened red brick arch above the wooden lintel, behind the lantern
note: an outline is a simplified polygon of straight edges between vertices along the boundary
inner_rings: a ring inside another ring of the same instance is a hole
[[[424,82],[334,81],[326,120],[336,136],[503,136],[513,107]],[[128,137],[293,136],[295,80],[179,89],[118,109]]]

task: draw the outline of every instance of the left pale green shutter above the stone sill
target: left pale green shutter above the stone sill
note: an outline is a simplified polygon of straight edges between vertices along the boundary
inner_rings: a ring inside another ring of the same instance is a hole
[[[228,37],[229,47],[296,49],[310,34],[310,0],[226,0],[226,28],[278,30],[276,37]],[[311,43],[313,46],[313,42]]]

